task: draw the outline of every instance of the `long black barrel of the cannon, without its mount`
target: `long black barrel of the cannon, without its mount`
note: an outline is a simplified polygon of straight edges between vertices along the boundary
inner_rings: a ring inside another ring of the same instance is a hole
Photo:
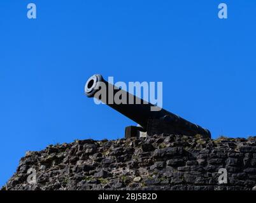
[[[102,89],[106,87],[106,89]],[[101,91],[103,94],[97,94]],[[113,98],[115,95],[125,95],[124,103],[115,103]],[[211,136],[208,129],[201,128],[192,122],[189,122],[176,114],[168,112],[164,108],[159,108],[159,110],[153,110],[152,107],[156,108],[155,105],[149,103],[138,96],[134,96],[123,89],[120,89],[113,84],[105,81],[102,75],[96,74],[92,75],[85,84],[85,95],[89,98],[94,97],[97,100],[101,100],[106,105],[117,110],[121,114],[125,115],[132,121],[139,124],[143,129],[147,129],[148,121],[150,119],[162,119],[173,124],[180,129],[188,129],[188,131],[193,131],[194,134],[204,134],[206,136]]]

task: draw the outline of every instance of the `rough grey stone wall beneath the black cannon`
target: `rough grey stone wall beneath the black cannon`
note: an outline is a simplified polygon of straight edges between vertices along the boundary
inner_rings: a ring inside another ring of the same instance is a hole
[[[27,183],[29,169],[36,183]],[[220,184],[219,169],[227,170]],[[160,134],[27,152],[2,190],[254,190],[256,137]]]

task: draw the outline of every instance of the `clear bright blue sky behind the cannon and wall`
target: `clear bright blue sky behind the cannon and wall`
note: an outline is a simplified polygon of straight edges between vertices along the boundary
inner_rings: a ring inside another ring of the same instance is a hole
[[[162,81],[164,108],[213,138],[255,135],[255,23],[256,1],[0,1],[0,185],[27,150],[124,136],[133,122],[84,96],[95,73]]]

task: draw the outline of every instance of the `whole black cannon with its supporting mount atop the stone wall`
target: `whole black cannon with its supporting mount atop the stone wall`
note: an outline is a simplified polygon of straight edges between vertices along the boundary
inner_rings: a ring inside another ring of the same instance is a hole
[[[106,96],[99,94],[99,91],[101,93],[104,91]],[[116,94],[124,96],[126,102],[115,102],[113,98]],[[145,137],[162,133],[185,134],[187,136],[201,134],[205,138],[211,138],[211,133],[208,129],[193,124],[176,114],[168,112],[164,108],[152,110],[155,105],[110,84],[103,79],[102,75],[92,75],[87,80],[85,95],[102,101],[138,124],[138,126],[128,126],[125,128],[125,138],[134,136]]]

